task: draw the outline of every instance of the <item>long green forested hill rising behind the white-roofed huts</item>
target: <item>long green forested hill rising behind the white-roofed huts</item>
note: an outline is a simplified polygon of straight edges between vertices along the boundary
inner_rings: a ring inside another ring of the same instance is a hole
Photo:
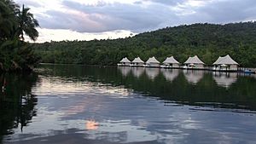
[[[115,65],[125,56],[163,61],[172,55],[183,63],[198,55],[210,66],[218,56],[229,54],[241,66],[256,67],[256,22],[166,27],[135,37],[35,43],[33,48],[49,63]]]

